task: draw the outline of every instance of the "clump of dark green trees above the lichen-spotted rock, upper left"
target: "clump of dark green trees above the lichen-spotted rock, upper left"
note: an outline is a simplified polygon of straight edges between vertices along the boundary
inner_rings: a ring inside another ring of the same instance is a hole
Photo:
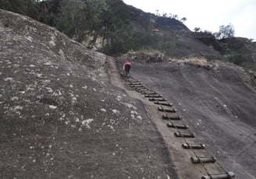
[[[123,53],[132,46],[133,34],[121,0],[1,0],[0,9],[55,26],[78,42],[90,38],[94,44],[101,37],[100,51],[105,54]]]

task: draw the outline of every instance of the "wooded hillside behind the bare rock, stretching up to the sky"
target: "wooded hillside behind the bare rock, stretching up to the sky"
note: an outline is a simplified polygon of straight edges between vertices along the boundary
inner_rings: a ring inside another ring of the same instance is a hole
[[[143,12],[122,0],[2,0],[0,9],[55,26],[85,47],[115,57],[129,51],[158,51],[165,58],[206,58],[256,69],[251,40],[217,40],[215,32],[190,31],[175,15]]]

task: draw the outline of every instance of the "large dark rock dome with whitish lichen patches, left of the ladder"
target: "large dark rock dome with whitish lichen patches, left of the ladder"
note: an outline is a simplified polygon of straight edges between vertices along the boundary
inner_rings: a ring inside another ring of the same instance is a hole
[[[2,10],[0,39],[0,178],[177,178],[112,58]]]

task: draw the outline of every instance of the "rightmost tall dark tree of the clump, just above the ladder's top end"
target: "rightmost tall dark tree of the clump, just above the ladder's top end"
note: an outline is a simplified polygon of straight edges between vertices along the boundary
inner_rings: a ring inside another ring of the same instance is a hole
[[[106,0],[106,9],[101,13],[102,51],[118,54],[128,51],[132,37],[130,25],[126,22],[129,12],[123,1]]]

